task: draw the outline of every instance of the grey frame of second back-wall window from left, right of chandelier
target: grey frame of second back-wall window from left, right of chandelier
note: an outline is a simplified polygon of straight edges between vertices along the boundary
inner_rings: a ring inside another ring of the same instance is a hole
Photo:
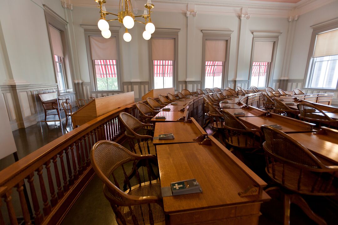
[[[155,32],[151,34],[151,38],[175,39],[175,60],[173,60],[173,88],[178,89],[178,32],[180,29],[176,28],[156,28]],[[151,58],[151,38],[149,39],[149,87],[154,89],[154,67]]]

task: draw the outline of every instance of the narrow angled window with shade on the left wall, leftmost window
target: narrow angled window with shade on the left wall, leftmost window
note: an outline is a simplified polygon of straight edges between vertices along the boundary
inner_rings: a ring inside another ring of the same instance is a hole
[[[67,89],[67,80],[65,73],[65,58],[61,39],[61,32],[49,25],[49,33],[52,41],[53,60],[55,67],[56,81],[59,92],[65,92]]]

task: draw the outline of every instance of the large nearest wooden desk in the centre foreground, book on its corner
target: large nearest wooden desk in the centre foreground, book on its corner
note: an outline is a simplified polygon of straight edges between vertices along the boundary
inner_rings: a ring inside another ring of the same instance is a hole
[[[211,145],[158,145],[161,186],[196,179],[203,192],[163,197],[166,224],[258,224],[266,183],[214,137]],[[250,185],[255,195],[239,196]]]

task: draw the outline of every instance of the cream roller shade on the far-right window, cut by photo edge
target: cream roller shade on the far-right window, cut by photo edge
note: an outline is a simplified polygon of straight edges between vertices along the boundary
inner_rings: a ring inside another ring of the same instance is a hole
[[[338,29],[317,34],[313,58],[338,55]]]

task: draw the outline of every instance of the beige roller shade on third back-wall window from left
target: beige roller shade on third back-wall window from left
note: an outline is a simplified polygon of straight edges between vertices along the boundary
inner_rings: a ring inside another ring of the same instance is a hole
[[[225,61],[226,40],[206,40],[205,61]]]

